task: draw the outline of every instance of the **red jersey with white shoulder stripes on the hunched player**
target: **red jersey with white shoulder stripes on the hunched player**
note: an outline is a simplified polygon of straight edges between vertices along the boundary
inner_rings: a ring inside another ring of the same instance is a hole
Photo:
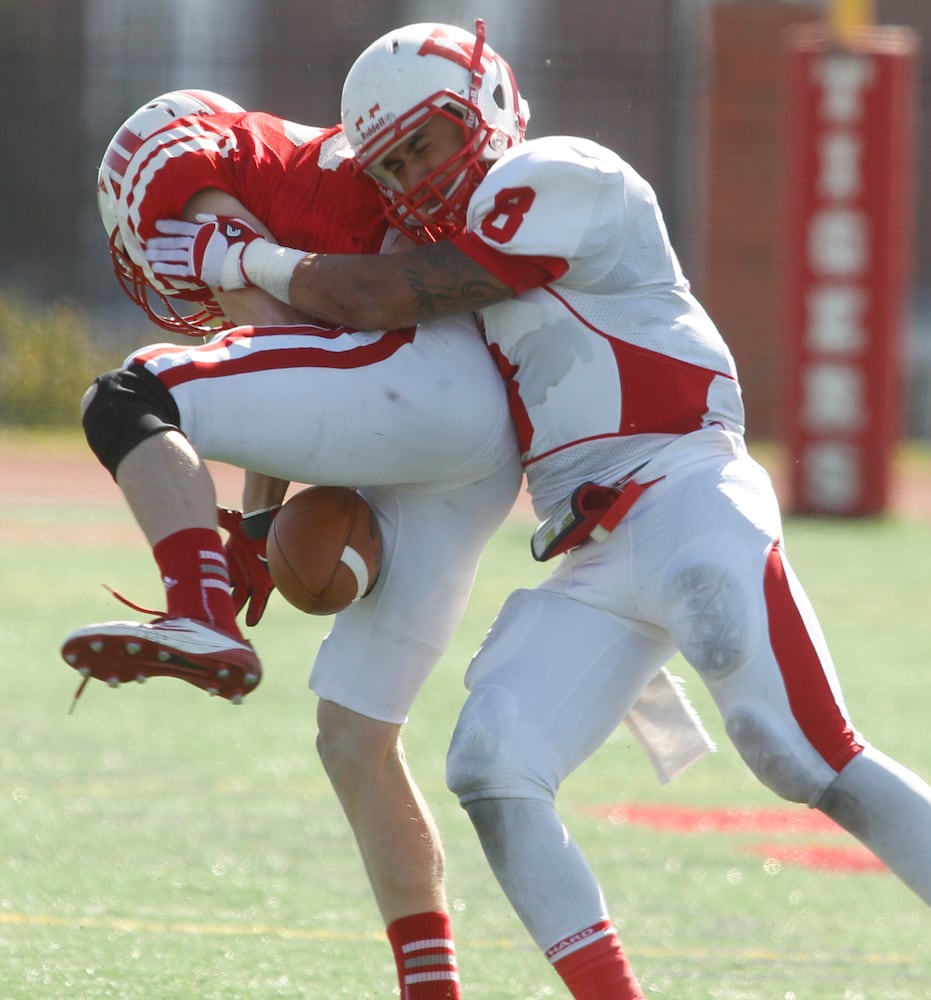
[[[127,140],[126,162],[115,165],[123,178],[120,229],[141,265],[139,244],[155,235],[155,222],[180,218],[205,188],[238,198],[287,246],[371,253],[384,239],[378,191],[355,168],[341,127],[238,112],[180,118],[143,141]]]

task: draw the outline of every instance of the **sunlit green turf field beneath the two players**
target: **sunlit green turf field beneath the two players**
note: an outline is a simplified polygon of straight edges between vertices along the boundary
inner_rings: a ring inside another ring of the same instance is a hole
[[[155,680],[119,691],[93,684],[69,715],[76,676],[58,642],[71,628],[123,617],[101,584],[157,606],[149,552],[141,535],[127,536],[129,515],[107,505],[5,502],[0,521],[15,529],[0,548],[0,996],[396,995],[378,914],[313,749],[306,676],[327,620],[273,600],[252,635],[266,677],[241,707]],[[62,524],[73,526],[73,545],[62,544]],[[80,540],[107,526],[120,528],[118,544]],[[931,526],[790,520],[786,533],[858,726],[931,775]],[[446,839],[471,1000],[565,995],[443,781],[469,656],[505,594],[542,575],[527,534],[525,523],[509,524],[489,548],[406,737]],[[779,860],[783,848],[855,847],[844,835],[657,831],[600,815],[631,804],[781,806],[724,742],[688,668],[674,667],[720,751],[661,788],[622,728],[561,795],[648,994],[931,998],[922,903],[886,872]]]

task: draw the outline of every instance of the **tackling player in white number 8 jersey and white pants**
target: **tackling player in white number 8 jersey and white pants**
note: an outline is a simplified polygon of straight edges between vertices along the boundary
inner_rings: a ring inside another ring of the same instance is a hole
[[[342,117],[389,218],[430,245],[242,252],[215,220],[166,221],[147,255],[362,328],[479,315],[541,519],[535,554],[562,558],[508,598],[470,665],[447,777],[572,996],[643,994],[556,792],[677,650],[763,784],[931,903],[931,788],[848,716],[747,453],[734,362],[649,184],[586,139],[524,141],[526,107],[480,22],[380,38],[346,78]]]

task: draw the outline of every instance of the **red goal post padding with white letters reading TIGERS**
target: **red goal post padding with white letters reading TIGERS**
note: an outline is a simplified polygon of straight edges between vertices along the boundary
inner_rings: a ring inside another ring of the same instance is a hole
[[[918,43],[818,25],[784,41],[788,506],[875,514],[901,436]]]

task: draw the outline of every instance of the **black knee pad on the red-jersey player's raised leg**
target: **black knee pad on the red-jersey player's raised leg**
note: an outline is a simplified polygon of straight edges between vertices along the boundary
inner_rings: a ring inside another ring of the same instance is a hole
[[[106,372],[94,384],[97,391],[84,411],[84,435],[116,479],[117,467],[136,445],[153,434],[179,430],[181,418],[171,393],[142,365]]]

